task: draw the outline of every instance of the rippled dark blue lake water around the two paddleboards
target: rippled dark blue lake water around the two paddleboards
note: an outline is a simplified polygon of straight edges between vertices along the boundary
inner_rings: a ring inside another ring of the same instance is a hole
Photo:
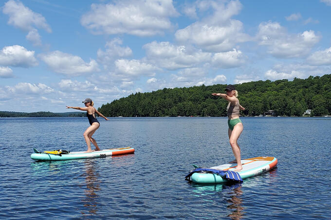
[[[100,148],[134,154],[34,162],[39,151],[86,150],[87,118],[0,118],[0,219],[330,219],[331,118],[241,118],[242,159],[276,169],[239,185],[186,182],[191,163],[234,159],[227,118],[111,118]]]

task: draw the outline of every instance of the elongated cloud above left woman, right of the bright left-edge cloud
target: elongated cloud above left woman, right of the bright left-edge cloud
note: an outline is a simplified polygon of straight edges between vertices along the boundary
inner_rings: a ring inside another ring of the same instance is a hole
[[[90,63],[85,63],[85,61],[79,56],[61,51],[40,54],[40,59],[53,71],[65,75],[78,76],[85,73],[99,71],[98,64],[95,60],[90,59]]]

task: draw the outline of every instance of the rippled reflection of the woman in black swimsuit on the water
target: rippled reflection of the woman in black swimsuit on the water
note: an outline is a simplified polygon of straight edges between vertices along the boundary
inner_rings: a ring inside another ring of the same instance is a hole
[[[86,160],[84,165],[85,173],[83,175],[85,176],[86,189],[84,190],[85,198],[82,199],[82,202],[84,207],[87,208],[87,213],[82,211],[82,215],[96,215],[99,206],[97,191],[100,191],[100,181],[95,173],[95,161]]]

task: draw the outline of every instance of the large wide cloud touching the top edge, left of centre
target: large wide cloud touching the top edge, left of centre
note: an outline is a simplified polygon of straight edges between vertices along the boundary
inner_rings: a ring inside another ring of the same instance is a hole
[[[169,17],[178,16],[172,0],[129,0],[92,4],[81,24],[93,34],[152,36],[172,28]]]

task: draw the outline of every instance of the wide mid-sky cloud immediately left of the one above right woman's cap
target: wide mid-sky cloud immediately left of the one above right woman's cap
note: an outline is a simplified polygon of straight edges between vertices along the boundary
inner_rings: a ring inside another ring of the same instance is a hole
[[[146,50],[149,62],[169,70],[195,67],[208,62],[211,58],[211,53],[176,46],[169,42],[153,41],[144,45],[143,48]]]

